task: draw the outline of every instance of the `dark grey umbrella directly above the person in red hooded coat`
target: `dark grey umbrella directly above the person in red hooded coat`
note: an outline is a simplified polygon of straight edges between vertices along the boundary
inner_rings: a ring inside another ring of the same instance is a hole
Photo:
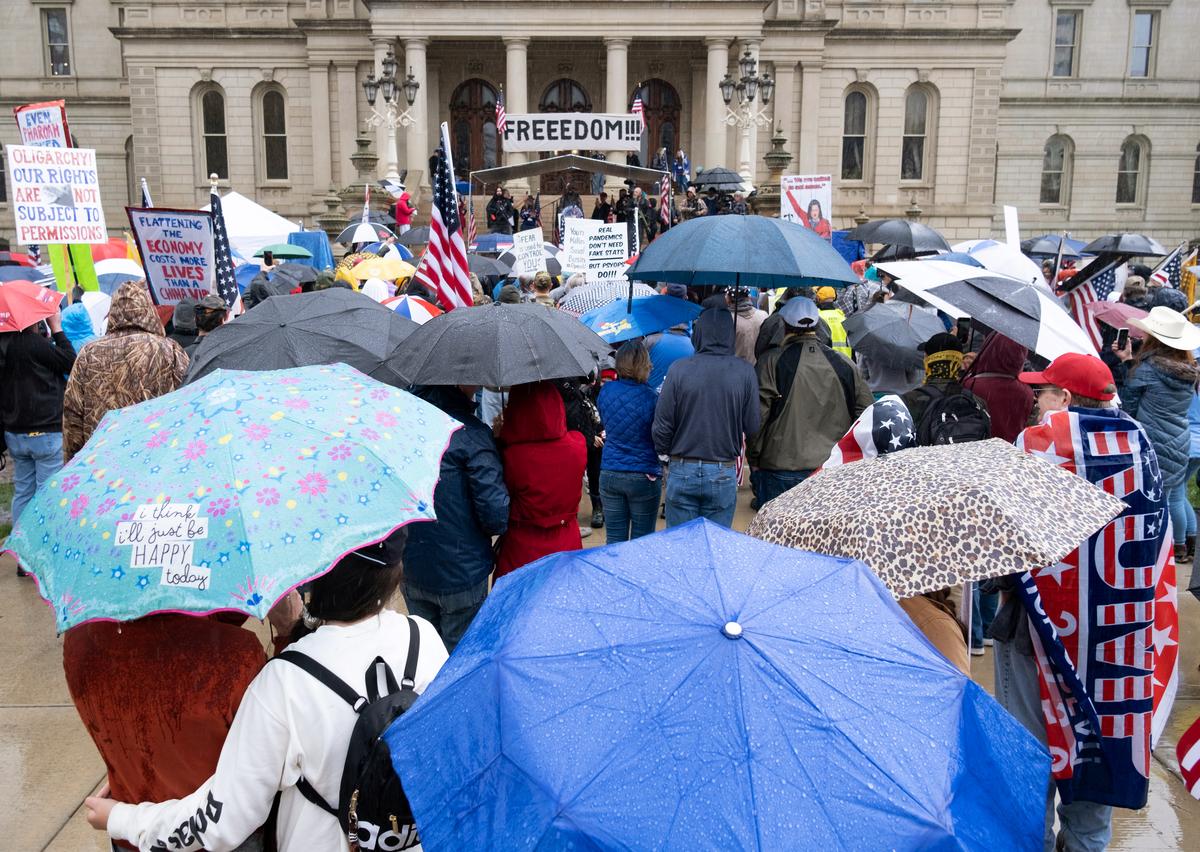
[[[460,307],[421,325],[396,352],[408,384],[509,388],[588,376],[608,344],[544,305]]]

